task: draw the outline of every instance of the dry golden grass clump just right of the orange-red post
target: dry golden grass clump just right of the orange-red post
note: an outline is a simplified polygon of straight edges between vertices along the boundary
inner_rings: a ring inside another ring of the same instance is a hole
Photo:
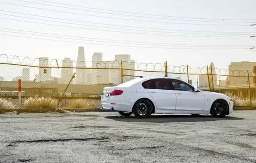
[[[35,97],[28,98],[24,101],[24,111],[33,112],[36,109],[55,109],[58,101],[50,97]]]

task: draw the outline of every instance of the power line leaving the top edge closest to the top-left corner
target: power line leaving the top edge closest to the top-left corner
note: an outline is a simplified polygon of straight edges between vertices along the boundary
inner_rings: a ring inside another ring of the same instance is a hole
[[[44,4],[44,3],[30,2],[30,1],[26,1],[26,0],[18,0],[18,1],[27,2],[27,3],[34,3],[34,4],[40,4],[40,5],[46,5],[46,6],[60,7],[60,8],[64,8],[64,9],[75,9],[75,8],[64,7],[64,6],[55,6],[55,5],[49,5],[49,4]],[[104,14],[114,14],[114,15],[122,15],[122,16],[133,16],[133,17],[141,17],[141,18],[155,18],[155,17],[147,17],[147,16],[125,15],[125,14],[116,14],[116,13],[110,13],[110,12],[92,11],[92,10],[85,10],[85,9],[75,9],[75,10],[80,10],[80,11],[82,10],[82,11],[88,11],[88,12],[99,12],[99,13],[104,13]],[[202,20],[183,20],[183,19],[174,19],[174,18],[155,18],[155,19],[167,19],[167,20],[178,20],[178,21],[202,21]],[[252,22],[239,22],[239,21],[225,22],[224,20],[222,20],[222,21],[203,21],[203,22],[252,23]]]

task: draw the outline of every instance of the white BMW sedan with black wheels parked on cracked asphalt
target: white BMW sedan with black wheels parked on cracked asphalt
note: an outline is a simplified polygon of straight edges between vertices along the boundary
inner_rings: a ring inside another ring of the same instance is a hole
[[[134,114],[148,118],[155,114],[211,114],[225,117],[233,112],[231,98],[219,93],[201,91],[174,78],[136,78],[115,87],[104,88],[103,109],[123,116]]]

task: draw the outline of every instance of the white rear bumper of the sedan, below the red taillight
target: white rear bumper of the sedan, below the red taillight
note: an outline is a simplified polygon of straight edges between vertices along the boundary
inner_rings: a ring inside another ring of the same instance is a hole
[[[124,99],[121,96],[101,99],[102,109],[111,109],[122,112],[132,112],[133,100]]]

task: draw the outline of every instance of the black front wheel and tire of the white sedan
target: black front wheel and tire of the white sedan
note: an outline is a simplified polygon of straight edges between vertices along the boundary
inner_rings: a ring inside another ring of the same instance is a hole
[[[229,105],[225,100],[219,99],[214,101],[210,109],[210,114],[213,117],[223,118],[228,114]]]

